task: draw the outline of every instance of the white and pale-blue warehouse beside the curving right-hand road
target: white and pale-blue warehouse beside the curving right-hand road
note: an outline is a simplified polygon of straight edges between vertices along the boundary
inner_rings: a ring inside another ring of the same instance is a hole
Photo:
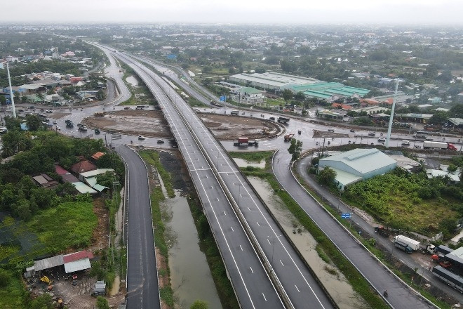
[[[375,148],[357,148],[320,159],[318,171],[324,169],[325,166],[336,172],[337,188],[344,190],[347,185],[395,169],[397,162]]]

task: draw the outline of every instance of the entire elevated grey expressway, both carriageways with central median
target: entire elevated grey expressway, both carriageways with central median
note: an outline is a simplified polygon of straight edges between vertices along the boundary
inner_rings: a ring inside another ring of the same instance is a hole
[[[246,178],[193,110],[147,67],[117,56],[145,81],[170,124],[241,307],[332,308]]]

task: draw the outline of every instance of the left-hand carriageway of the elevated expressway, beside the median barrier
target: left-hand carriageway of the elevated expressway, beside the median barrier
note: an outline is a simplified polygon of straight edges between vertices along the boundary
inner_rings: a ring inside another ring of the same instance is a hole
[[[283,308],[267,272],[255,253],[241,223],[229,206],[227,196],[219,190],[220,184],[201,147],[189,132],[189,128],[168,102],[168,97],[152,78],[135,65],[130,65],[140,74],[163,109],[171,130],[177,139],[190,176],[199,193],[204,211],[214,232],[217,246],[227,265],[227,272],[242,308]]]

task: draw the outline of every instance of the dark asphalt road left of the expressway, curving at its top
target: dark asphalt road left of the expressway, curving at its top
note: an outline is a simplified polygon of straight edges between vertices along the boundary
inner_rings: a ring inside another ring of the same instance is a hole
[[[127,308],[161,308],[147,169],[128,147],[116,151],[128,171]]]

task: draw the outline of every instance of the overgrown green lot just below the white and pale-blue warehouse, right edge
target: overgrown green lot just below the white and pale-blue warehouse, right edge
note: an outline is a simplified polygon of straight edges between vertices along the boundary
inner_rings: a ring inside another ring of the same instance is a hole
[[[463,214],[461,188],[448,185],[444,178],[428,179],[426,174],[412,174],[396,169],[354,185],[349,185],[342,199],[365,209],[393,228],[415,230],[431,235],[443,230],[453,232],[449,221]]]

